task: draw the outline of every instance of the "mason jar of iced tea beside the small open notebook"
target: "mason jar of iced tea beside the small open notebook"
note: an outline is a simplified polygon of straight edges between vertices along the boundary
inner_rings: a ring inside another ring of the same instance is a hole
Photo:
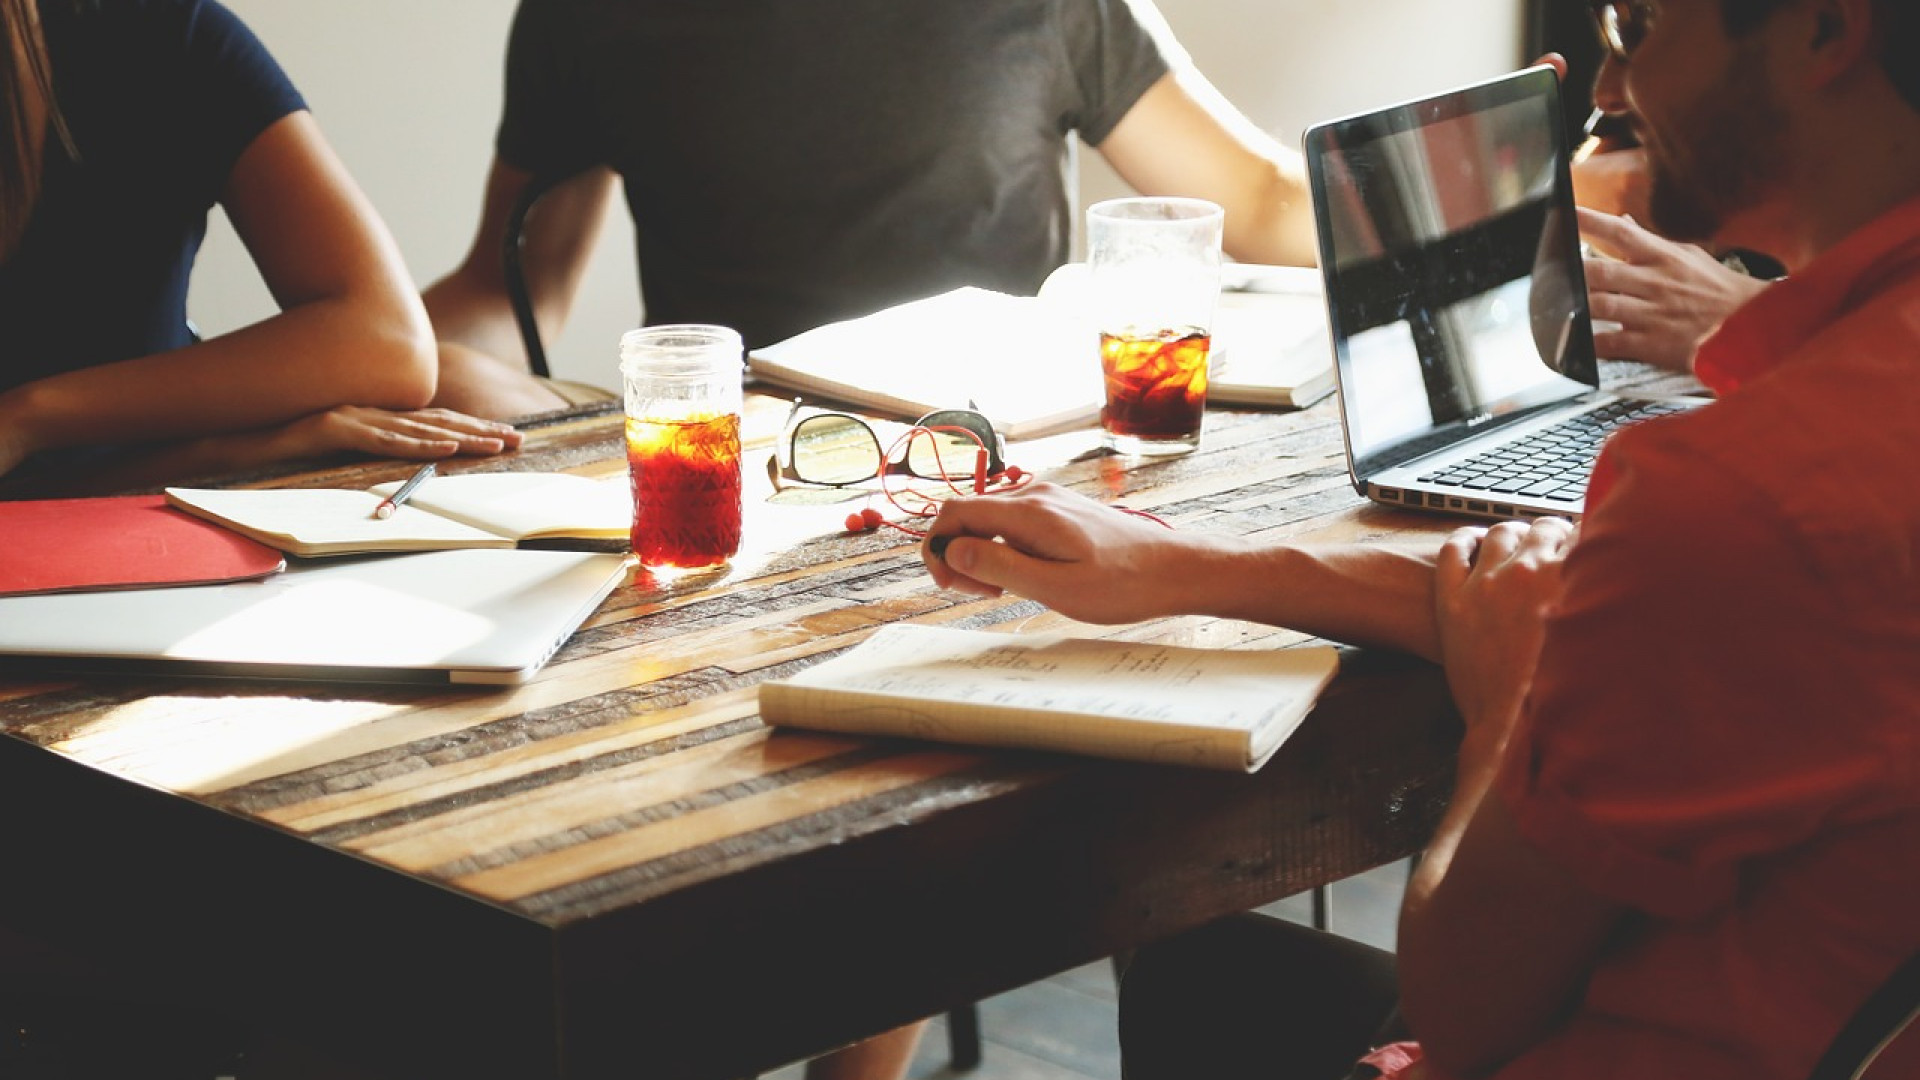
[[[739,552],[741,357],[726,327],[620,338],[634,553],[649,569],[718,567]]]

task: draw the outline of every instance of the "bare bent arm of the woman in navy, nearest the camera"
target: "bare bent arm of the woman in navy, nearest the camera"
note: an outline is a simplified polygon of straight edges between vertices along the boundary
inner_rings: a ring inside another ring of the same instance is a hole
[[[426,405],[426,311],[309,113],[282,117],[242,152],[223,204],[280,313],[0,394],[0,473],[40,450],[261,430],[349,404]]]

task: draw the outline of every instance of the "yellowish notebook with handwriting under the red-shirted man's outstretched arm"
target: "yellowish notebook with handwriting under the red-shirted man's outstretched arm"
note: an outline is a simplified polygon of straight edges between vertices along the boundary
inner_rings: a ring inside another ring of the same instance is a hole
[[[1329,646],[1194,650],[897,623],[762,682],[760,719],[1252,773],[1336,669]]]

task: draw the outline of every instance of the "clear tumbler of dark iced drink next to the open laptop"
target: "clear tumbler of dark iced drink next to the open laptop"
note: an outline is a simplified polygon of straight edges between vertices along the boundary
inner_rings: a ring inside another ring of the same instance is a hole
[[[1198,198],[1116,198],[1087,209],[1091,309],[1100,332],[1100,427],[1121,454],[1200,446],[1219,206]]]

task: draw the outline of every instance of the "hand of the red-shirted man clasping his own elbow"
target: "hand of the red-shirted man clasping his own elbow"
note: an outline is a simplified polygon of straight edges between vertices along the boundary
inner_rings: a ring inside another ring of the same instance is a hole
[[[1448,536],[1434,567],[1440,661],[1469,738],[1503,742],[1540,661],[1561,563],[1578,528],[1557,517],[1503,521]]]

